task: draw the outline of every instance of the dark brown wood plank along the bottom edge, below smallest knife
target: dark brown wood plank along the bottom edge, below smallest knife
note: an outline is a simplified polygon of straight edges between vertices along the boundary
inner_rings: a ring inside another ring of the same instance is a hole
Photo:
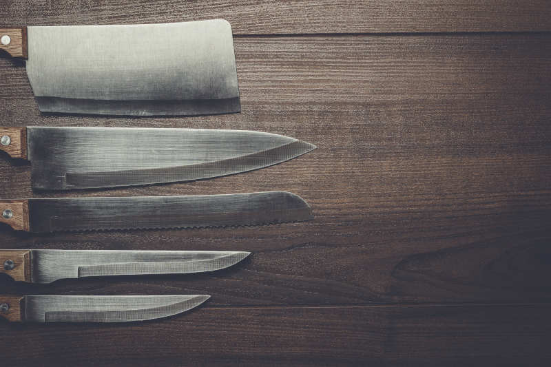
[[[8,366],[548,366],[548,310],[200,308],[146,323],[0,323],[0,344]]]

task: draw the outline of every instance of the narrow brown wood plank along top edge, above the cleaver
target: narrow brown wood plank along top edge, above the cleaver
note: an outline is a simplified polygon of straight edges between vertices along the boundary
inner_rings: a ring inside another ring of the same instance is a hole
[[[551,30],[546,0],[4,1],[0,24],[129,24],[227,19],[235,34]]]

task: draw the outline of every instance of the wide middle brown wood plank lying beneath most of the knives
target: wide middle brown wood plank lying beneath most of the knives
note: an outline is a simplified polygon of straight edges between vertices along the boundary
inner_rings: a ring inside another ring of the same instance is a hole
[[[21,67],[0,61],[13,76],[0,87],[0,123],[258,129],[316,151],[225,178],[70,193],[32,193],[30,167],[0,159],[0,197],[281,189],[307,200],[315,220],[197,231],[3,229],[2,248],[254,252],[220,273],[23,289],[206,292],[212,305],[550,300],[551,36],[258,37],[238,39],[236,52],[242,114],[41,115]]]

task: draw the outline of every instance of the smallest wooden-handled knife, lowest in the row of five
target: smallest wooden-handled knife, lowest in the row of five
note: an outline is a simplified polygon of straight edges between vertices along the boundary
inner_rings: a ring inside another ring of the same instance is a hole
[[[130,322],[191,310],[209,295],[0,295],[11,322]]]

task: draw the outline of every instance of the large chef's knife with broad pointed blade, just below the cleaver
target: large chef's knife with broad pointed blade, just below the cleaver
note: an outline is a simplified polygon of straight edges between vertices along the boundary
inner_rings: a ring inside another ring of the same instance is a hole
[[[290,160],[315,146],[240,130],[0,127],[0,149],[31,161],[34,189],[67,190],[237,174]]]

